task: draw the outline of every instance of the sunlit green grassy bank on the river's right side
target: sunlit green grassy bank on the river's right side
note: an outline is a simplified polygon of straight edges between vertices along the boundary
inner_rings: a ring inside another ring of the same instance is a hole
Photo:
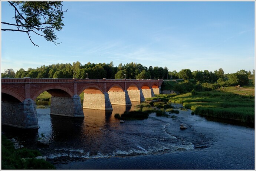
[[[196,95],[191,93],[176,95],[170,97],[169,102],[182,103],[195,114],[255,123],[254,89],[242,87],[242,91],[243,93],[240,90],[237,91],[237,87],[225,87],[197,92]]]

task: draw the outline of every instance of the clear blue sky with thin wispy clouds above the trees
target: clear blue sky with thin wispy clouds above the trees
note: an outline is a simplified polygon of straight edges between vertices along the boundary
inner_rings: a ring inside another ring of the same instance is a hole
[[[63,1],[59,47],[1,31],[1,73],[73,63],[141,63],[224,73],[255,69],[255,1]],[[15,23],[1,1],[1,22]],[[1,24],[1,28],[7,28]]]

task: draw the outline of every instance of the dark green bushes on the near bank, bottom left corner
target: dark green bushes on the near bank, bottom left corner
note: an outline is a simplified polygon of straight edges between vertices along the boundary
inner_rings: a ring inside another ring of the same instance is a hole
[[[20,148],[15,150],[13,142],[1,135],[1,169],[3,170],[53,170],[53,164],[43,159],[36,159],[40,156],[37,150]]]

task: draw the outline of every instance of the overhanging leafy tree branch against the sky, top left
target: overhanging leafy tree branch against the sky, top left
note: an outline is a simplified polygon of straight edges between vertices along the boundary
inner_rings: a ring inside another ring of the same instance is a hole
[[[19,31],[27,33],[30,41],[32,40],[30,33],[35,33],[44,37],[47,41],[53,42],[55,45],[58,39],[55,31],[62,30],[63,12],[61,1],[8,1],[10,6],[14,8],[15,23],[6,23],[2,26],[9,27],[8,29],[1,28],[2,31]],[[57,46],[57,45],[56,45]]]

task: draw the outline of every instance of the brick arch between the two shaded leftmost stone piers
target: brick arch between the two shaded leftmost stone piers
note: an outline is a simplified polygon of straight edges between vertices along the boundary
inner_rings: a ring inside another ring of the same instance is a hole
[[[31,95],[31,99],[35,100],[41,93],[47,91],[52,96],[61,96],[61,97],[73,97],[72,91],[70,91],[68,88],[63,86],[57,86],[55,84],[49,84],[43,88],[41,88],[39,91],[37,91],[34,95]]]

